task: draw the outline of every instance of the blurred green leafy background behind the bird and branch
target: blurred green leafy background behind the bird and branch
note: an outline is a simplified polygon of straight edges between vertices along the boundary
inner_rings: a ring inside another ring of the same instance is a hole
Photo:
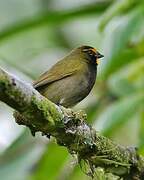
[[[105,55],[92,93],[75,109],[117,143],[144,154],[144,2],[0,0],[0,66],[31,83],[72,48]],[[18,126],[0,103],[1,180],[89,179],[75,157]]]

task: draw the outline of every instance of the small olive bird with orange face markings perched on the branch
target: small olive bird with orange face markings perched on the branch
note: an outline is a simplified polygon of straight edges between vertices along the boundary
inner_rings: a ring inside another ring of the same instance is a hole
[[[33,86],[55,104],[72,107],[91,91],[98,59],[102,57],[93,47],[78,47],[42,74]]]

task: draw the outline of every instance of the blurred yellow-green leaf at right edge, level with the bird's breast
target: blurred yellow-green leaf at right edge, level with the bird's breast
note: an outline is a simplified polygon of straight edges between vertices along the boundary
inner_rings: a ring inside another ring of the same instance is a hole
[[[108,87],[116,95],[129,95],[144,89],[144,58],[136,59],[108,79]]]

